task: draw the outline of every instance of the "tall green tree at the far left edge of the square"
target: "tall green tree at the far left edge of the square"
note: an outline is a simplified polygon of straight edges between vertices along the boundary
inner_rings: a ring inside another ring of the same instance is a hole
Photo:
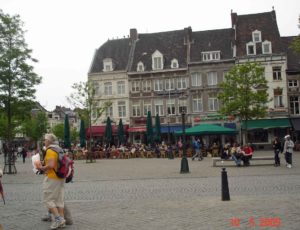
[[[24,39],[23,22],[19,15],[10,16],[0,10],[0,110],[4,114],[8,145],[14,138],[20,121],[29,116],[33,106],[35,86],[41,82],[33,70],[32,50]],[[9,153],[9,174],[12,153]]]

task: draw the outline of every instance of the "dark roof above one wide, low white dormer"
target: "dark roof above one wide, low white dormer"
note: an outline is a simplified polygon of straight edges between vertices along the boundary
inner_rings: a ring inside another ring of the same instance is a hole
[[[233,39],[233,29],[193,32],[190,61],[201,61],[201,52],[207,51],[221,51],[221,60],[233,58]]]

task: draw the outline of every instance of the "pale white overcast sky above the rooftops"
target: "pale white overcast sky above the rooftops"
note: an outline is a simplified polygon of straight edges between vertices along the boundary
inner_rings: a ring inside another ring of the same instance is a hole
[[[43,77],[37,100],[49,111],[71,107],[71,85],[86,81],[94,52],[107,39],[138,33],[193,31],[231,27],[231,10],[238,15],[276,11],[281,36],[300,33],[299,0],[0,0],[0,8],[19,14],[35,72]]]

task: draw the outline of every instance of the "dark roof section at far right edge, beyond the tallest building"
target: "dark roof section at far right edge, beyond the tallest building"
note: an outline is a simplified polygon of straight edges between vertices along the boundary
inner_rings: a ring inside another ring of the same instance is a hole
[[[296,38],[296,36],[281,37],[282,46],[287,53],[288,66],[286,71],[290,73],[300,73],[300,54],[296,54],[293,49],[290,48],[294,38]]]

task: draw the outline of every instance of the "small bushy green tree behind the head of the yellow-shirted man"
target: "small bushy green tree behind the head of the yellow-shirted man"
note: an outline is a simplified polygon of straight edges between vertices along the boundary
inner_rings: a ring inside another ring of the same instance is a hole
[[[34,140],[38,148],[44,134],[47,133],[47,127],[48,118],[44,112],[38,112],[23,123],[24,133]]]

